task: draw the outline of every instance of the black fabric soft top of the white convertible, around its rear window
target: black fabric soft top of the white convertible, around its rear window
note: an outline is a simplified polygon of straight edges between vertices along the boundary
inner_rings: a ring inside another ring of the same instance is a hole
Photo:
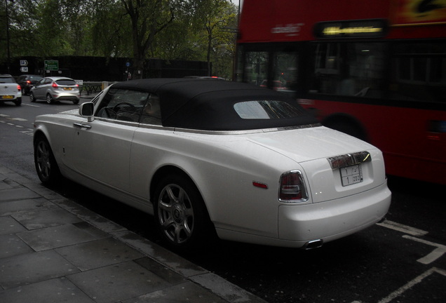
[[[218,79],[141,79],[114,84],[160,97],[163,126],[197,130],[250,130],[318,123],[295,100],[267,88]],[[242,119],[234,104],[250,100],[281,100],[302,115],[289,119]]]

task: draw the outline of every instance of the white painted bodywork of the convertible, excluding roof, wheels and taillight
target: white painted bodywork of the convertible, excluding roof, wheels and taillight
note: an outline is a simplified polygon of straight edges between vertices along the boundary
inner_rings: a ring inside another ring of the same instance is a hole
[[[89,122],[75,110],[38,116],[35,124],[62,175],[147,213],[154,213],[150,184],[156,172],[179,168],[227,240],[290,247],[327,242],[378,222],[390,206],[379,149],[322,126],[194,131],[97,117]],[[372,159],[360,164],[363,182],[342,186],[339,168],[327,158],[363,151]],[[304,175],[307,201],[278,200],[280,177],[290,170]]]

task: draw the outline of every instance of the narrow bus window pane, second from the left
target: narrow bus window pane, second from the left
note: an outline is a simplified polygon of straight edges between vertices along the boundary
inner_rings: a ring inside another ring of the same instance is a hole
[[[273,53],[272,88],[279,92],[293,92],[297,88],[297,53]]]

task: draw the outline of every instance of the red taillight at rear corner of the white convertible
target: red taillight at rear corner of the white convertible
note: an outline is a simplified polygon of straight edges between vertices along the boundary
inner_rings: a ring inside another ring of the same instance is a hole
[[[278,198],[281,202],[291,203],[308,200],[304,177],[299,170],[292,170],[281,175]]]

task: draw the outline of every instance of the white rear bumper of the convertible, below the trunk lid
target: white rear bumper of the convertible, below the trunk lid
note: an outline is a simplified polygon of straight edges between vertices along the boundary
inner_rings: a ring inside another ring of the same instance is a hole
[[[278,236],[282,241],[294,242],[292,246],[295,247],[318,239],[332,241],[379,222],[388,212],[390,203],[391,191],[384,183],[331,201],[279,206]]]

